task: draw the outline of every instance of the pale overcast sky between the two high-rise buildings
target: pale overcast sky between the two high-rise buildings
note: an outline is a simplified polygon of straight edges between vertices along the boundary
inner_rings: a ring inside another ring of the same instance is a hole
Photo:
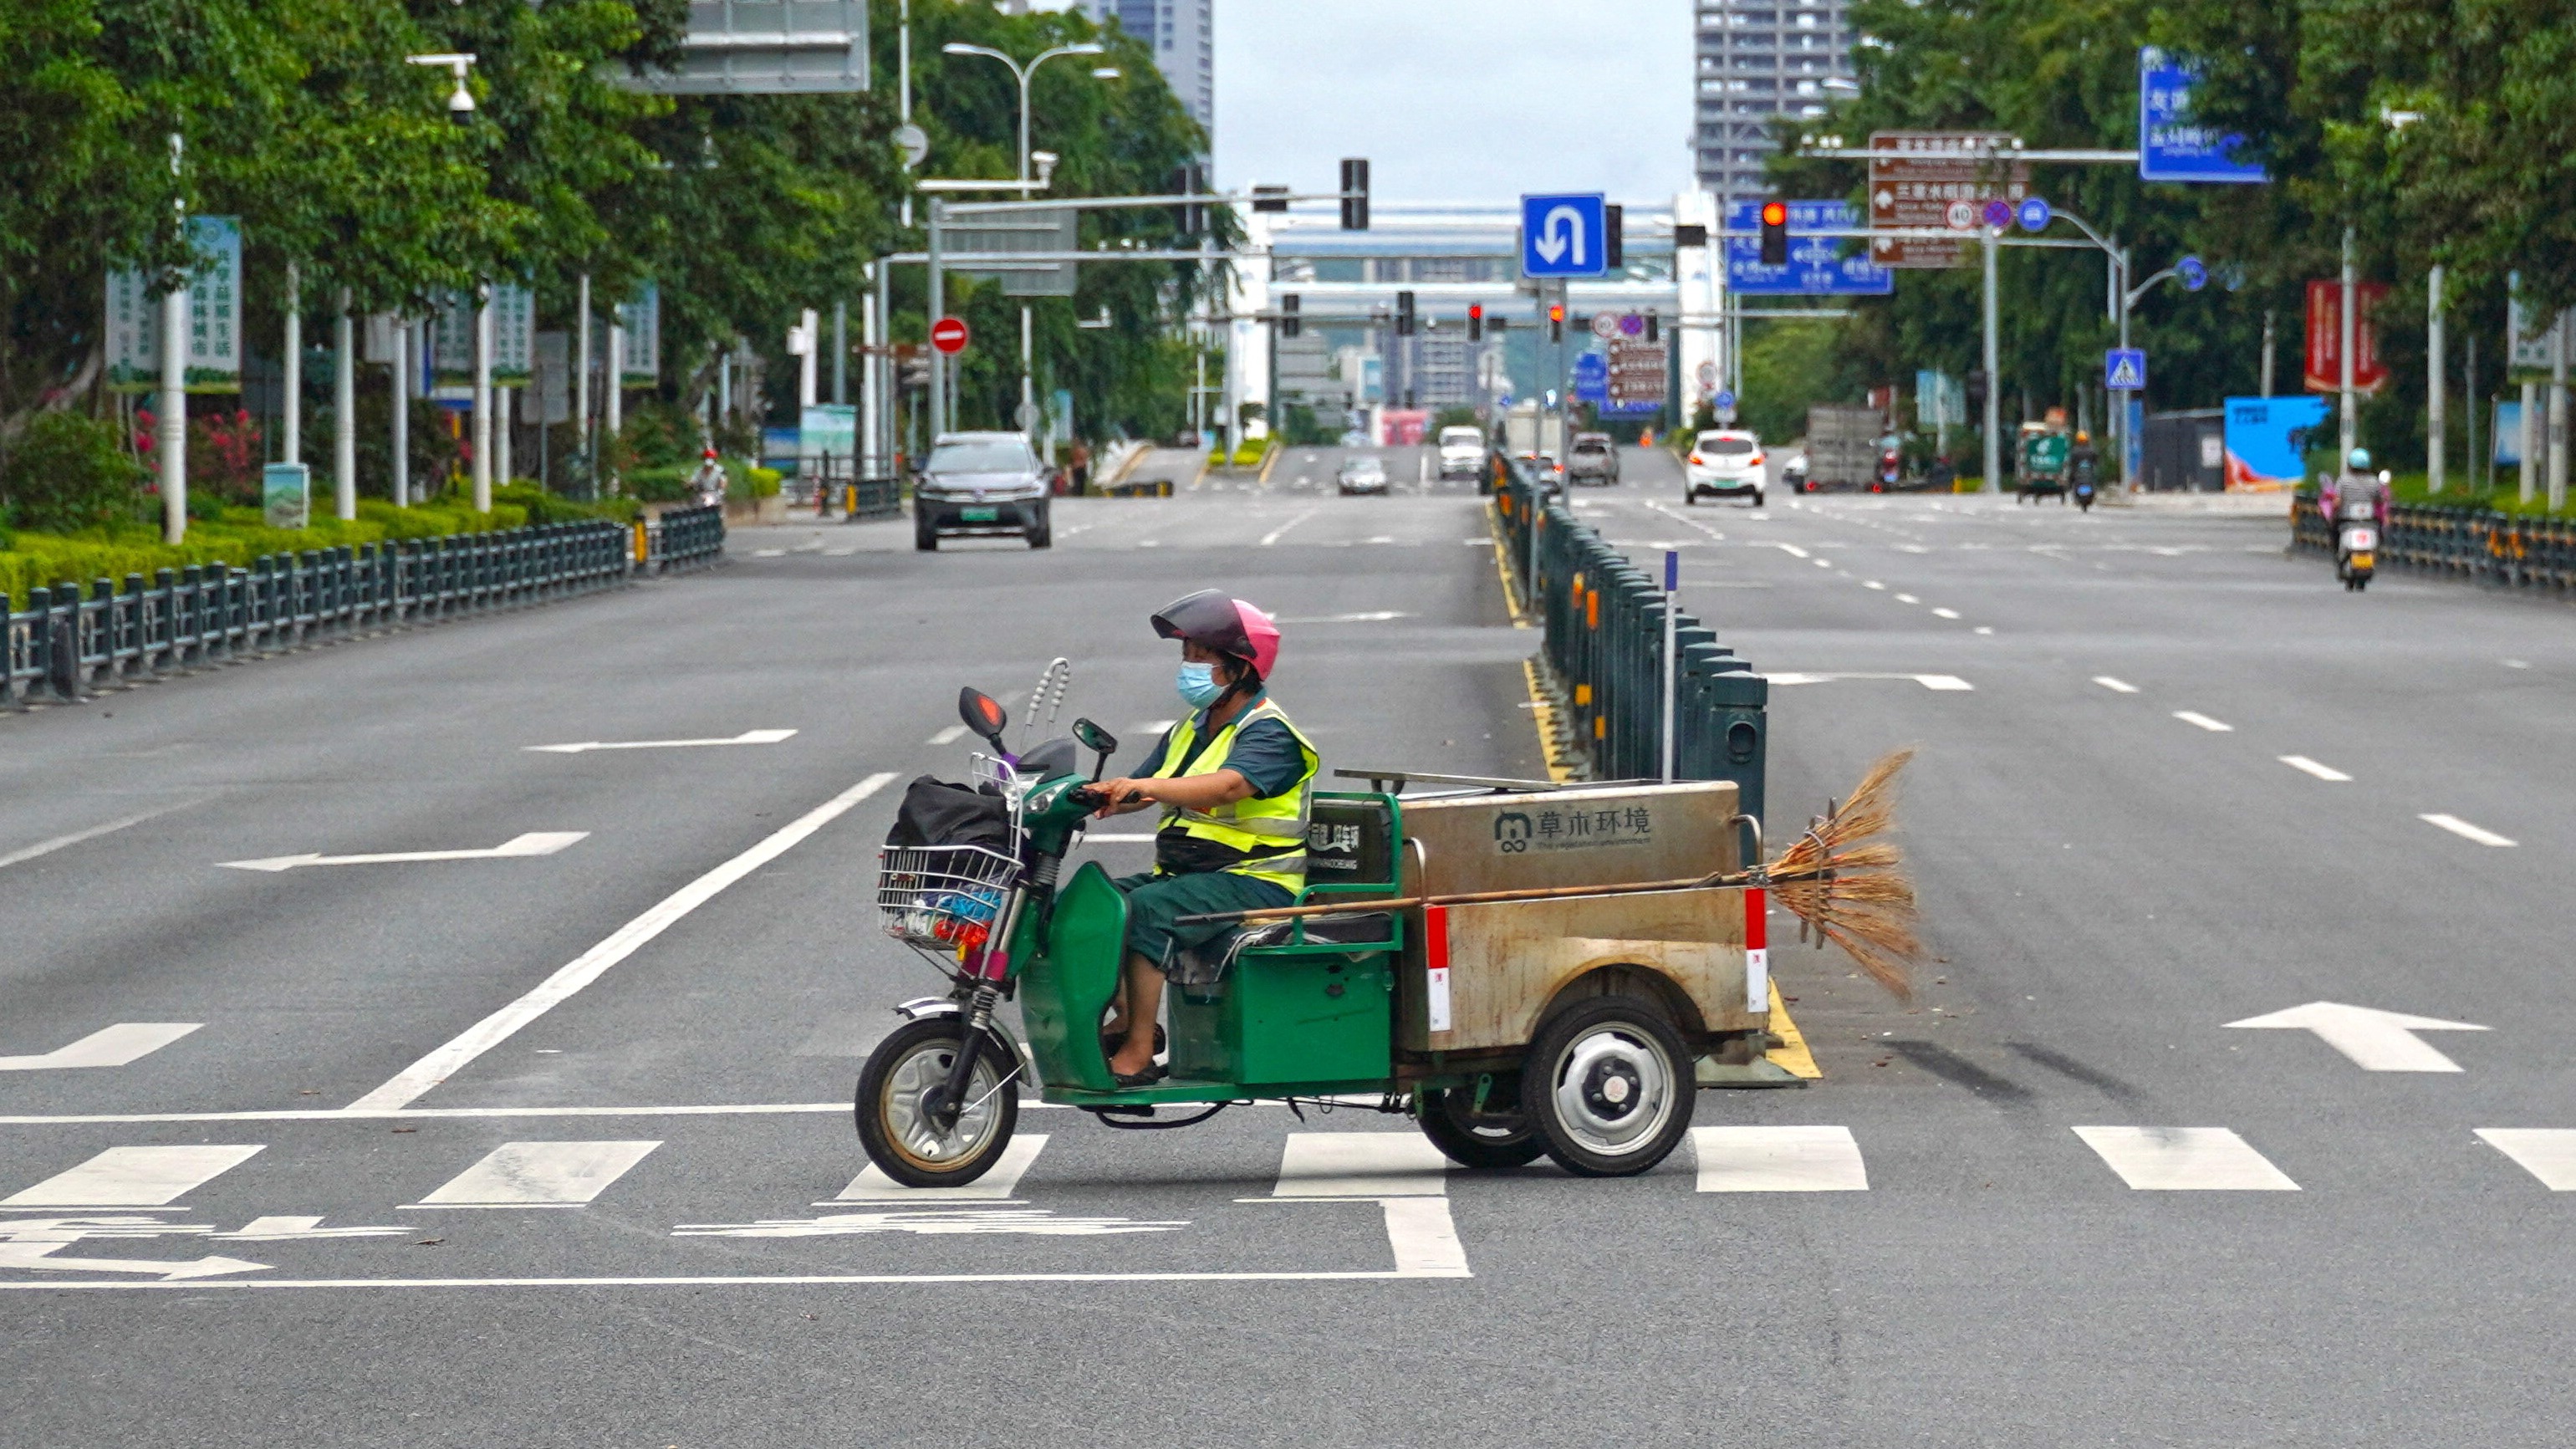
[[[1690,0],[1216,0],[1216,180],[1669,204],[1690,64]]]

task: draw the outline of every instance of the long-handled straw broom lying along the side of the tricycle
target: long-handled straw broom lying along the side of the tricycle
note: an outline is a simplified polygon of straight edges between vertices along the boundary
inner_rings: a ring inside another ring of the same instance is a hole
[[[1914,750],[1896,750],[1860,776],[1852,797],[1826,802],[1808,820],[1798,843],[1747,871],[1710,877],[1566,884],[1540,890],[1479,890],[1463,895],[1409,895],[1399,900],[1350,900],[1334,905],[1275,905],[1265,910],[1224,910],[1182,915],[1175,926],[1296,920],[1314,915],[1360,915],[1417,905],[1486,905],[1499,900],[1551,900],[1569,895],[1643,895],[1651,890],[1762,887],[1798,918],[1798,938],[1842,946],[1852,962],[1899,1000],[1914,998],[1909,969],[1922,954],[1914,936],[1914,882],[1904,874],[1904,853],[1883,835],[1896,825],[1896,776]]]

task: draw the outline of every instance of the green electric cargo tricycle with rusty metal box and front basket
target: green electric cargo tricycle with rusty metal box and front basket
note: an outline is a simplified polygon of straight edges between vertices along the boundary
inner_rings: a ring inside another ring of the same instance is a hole
[[[858,1137],[896,1183],[979,1178],[1030,1080],[1110,1127],[1324,1101],[1414,1116],[1468,1168],[1546,1152],[1582,1176],[1664,1160],[1703,1085],[1795,1080],[1762,1057],[1775,1044],[1765,892],[1705,884],[1759,859],[1734,784],[1417,773],[1432,794],[1311,797],[1298,902],[1337,910],[1247,926],[1211,946],[1218,959],[1177,972],[1167,1075],[1118,1088],[1100,1026],[1126,897],[1097,861],[1064,874],[1118,740],[1077,719],[1072,737],[1010,755],[994,699],[969,688],[958,709],[989,745],[971,789],[1007,828],[979,843],[889,841],[878,861],[886,933],[948,977],[945,995],[896,1008],[904,1024],[858,1078]],[[1077,745],[1095,755],[1090,776]],[[1020,1006],[1025,1049],[997,1018],[1005,1000]]]

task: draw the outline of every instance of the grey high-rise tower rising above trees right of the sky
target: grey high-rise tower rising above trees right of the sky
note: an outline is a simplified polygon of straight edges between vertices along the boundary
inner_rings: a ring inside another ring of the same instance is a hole
[[[1844,0],[1698,0],[1700,186],[1718,201],[1762,196],[1772,116],[1821,116],[1826,80],[1850,80]]]

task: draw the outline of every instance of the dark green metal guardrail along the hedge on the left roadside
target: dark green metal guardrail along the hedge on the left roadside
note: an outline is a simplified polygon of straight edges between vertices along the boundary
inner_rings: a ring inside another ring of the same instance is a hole
[[[659,521],[541,523],[453,539],[263,554],[247,570],[191,565],[152,583],[93,580],[31,588],[0,608],[0,709],[39,688],[80,699],[95,688],[211,663],[260,657],[325,634],[430,624],[482,608],[546,603],[626,583],[639,570],[693,567],[724,552],[724,511],[683,508]]]

